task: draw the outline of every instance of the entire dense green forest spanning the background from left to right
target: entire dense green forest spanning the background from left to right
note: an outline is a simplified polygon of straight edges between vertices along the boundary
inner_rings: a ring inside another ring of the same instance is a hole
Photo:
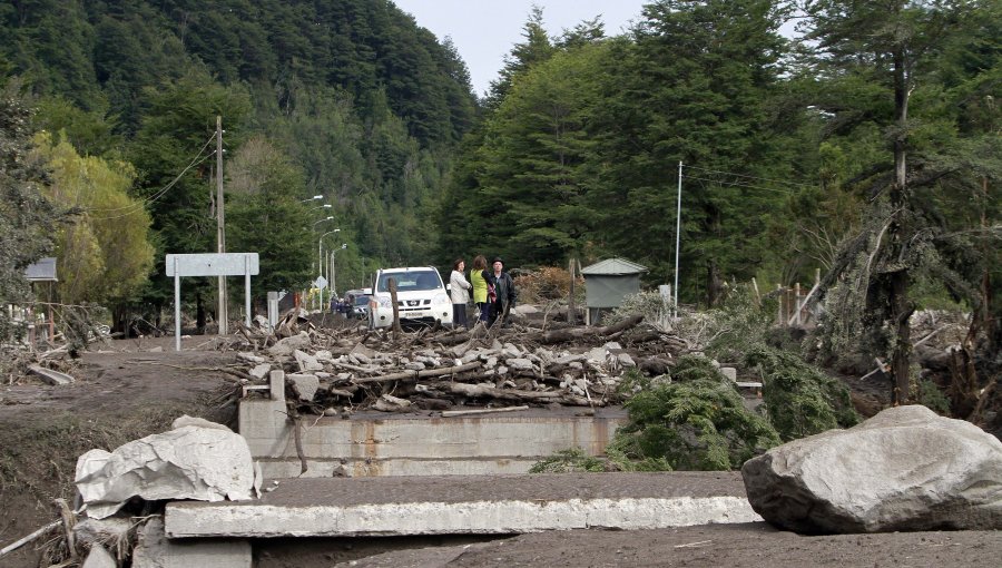
[[[262,253],[258,295],[308,282],[333,228],[338,283],[480,253],[623,256],[671,282],[681,187],[682,302],[819,268],[843,306],[825,349],[944,301],[999,336],[999,2],[661,0],[617,37],[544,16],[483,100],[450,41],[384,0],[0,2],[0,72],[35,97],[49,169],[118,176],[115,198],[49,192],[91,252],[99,222],[148,215],[150,277],[81,298],[163,304],[164,253],[214,249],[222,115],[227,248]]]

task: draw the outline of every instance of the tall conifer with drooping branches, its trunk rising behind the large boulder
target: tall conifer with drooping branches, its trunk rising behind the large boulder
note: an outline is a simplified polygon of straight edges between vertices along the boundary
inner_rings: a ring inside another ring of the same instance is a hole
[[[831,107],[842,130],[870,120],[884,128],[886,153],[859,176],[859,182],[868,185],[874,204],[867,215],[867,231],[849,243],[826,282],[834,283],[851,267],[855,271],[853,281],[865,298],[856,304],[856,317],[865,319],[871,329],[892,330],[887,350],[894,376],[893,401],[905,403],[911,400],[910,316],[915,305],[910,287],[914,277],[922,270],[935,267],[944,277],[963,282],[939,255],[950,246],[949,239],[936,231],[937,215],[923,203],[918,189],[936,187],[957,174],[969,175],[961,174],[963,169],[970,172],[970,164],[937,165],[927,159],[932,157],[929,153],[923,159],[924,136],[921,121],[911,116],[911,104],[916,92],[936,88],[930,87],[939,82],[936,66],[942,61],[942,48],[970,30],[970,18],[983,16],[984,7],[962,0],[822,0],[802,8],[808,17],[805,40],[812,42],[814,72],[825,82],[855,81],[886,97],[883,107],[853,108],[851,100]],[[911,158],[915,153],[920,153],[917,164]]]

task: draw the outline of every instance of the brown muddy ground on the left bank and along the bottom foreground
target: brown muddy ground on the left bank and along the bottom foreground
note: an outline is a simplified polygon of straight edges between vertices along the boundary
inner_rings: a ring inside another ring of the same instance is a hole
[[[235,353],[213,337],[119,340],[84,354],[77,382],[0,385],[0,547],[57,518],[72,500],[77,456],[169,428],[180,414],[235,425]],[[150,351],[155,350],[155,351]],[[872,383],[853,385],[867,394]],[[39,539],[2,567],[48,566]],[[803,537],[764,523],[645,531],[581,530],[489,537],[277,539],[255,545],[259,567],[298,566],[998,566],[1002,531]],[[41,562],[41,564],[40,564]]]

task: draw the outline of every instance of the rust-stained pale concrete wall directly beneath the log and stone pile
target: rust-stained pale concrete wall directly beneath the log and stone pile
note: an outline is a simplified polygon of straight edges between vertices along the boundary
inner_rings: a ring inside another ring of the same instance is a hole
[[[273,373],[274,376],[275,373]],[[527,473],[537,461],[569,448],[601,456],[627,420],[621,408],[528,409],[443,418],[441,413],[365,412],[304,423],[307,477]],[[292,422],[285,403],[244,400],[239,432],[266,478],[296,477]]]

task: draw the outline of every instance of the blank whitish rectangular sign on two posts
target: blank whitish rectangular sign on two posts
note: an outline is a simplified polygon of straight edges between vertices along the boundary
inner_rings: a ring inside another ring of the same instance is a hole
[[[244,321],[250,326],[250,276],[261,272],[257,253],[168,254],[167,275],[174,276],[175,349],[180,351],[180,277],[244,275]],[[225,316],[225,315],[224,315]],[[222,327],[220,327],[222,329]]]

